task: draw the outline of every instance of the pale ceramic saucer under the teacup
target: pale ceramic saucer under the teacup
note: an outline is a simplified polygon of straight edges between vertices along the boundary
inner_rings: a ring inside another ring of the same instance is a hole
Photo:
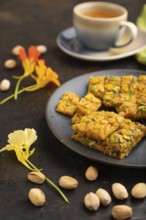
[[[57,37],[58,47],[66,54],[89,61],[111,61],[132,56],[146,47],[146,32],[138,29],[136,39],[123,48],[111,48],[108,51],[97,52],[88,50],[77,39],[73,27],[63,30]]]

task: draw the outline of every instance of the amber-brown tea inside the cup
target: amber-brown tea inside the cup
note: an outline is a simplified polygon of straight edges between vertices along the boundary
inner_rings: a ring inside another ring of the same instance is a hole
[[[90,10],[85,11],[83,14],[94,18],[114,18],[119,16],[117,12],[110,10]]]

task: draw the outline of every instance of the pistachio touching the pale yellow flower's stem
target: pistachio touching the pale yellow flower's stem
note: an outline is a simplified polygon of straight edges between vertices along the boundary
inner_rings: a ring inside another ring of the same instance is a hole
[[[45,181],[45,175],[41,172],[32,171],[27,177],[33,183],[42,184]]]

